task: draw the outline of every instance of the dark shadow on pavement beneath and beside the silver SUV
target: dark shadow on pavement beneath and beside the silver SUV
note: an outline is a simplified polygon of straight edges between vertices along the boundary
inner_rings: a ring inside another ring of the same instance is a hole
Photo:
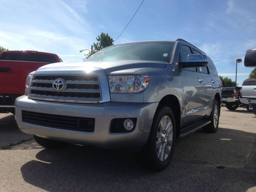
[[[141,168],[131,152],[78,145],[41,150],[20,170],[27,183],[48,191],[247,191],[256,188],[255,138],[224,128],[198,131],[178,139],[159,173]]]

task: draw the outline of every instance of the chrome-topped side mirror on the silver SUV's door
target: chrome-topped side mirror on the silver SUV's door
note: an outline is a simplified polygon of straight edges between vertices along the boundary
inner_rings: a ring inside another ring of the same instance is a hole
[[[191,54],[187,56],[186,62],[180,62],[180,68],[204,67],[208,65],[207,56],[202,54]]]

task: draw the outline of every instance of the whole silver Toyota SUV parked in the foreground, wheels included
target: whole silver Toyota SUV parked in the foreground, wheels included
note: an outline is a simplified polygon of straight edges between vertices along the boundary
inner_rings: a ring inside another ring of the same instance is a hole
[[[139,147],[139,159],[162,170],[177,137],[217,132],[221,84],[211,59],[183,39],[114,45],[31,73],[16,121],[41,146]]]

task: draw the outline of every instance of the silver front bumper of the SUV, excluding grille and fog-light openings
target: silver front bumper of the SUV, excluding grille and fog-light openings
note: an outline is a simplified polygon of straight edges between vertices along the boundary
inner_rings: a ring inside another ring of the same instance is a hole
[[[143,146],[150,134],[158,103],[106,102],[101,104],[62,103],[18,97],[15,101],[16,121],[20,130],[39,137],[90,144],[103,148]],[[94,132],[79,132],[25,123],[22,111],[54,115],[95,118]],[[114,118],[137,118],[134,131],[110,133]]]

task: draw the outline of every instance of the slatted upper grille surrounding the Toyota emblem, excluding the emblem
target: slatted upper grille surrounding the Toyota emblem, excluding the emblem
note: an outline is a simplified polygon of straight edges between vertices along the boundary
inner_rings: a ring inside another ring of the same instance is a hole
[[[53,88],[56,79],[65,81],[61,91]],[[34,75],[30,98],[63,102],[98,102],[102,99],[97,75]]]

